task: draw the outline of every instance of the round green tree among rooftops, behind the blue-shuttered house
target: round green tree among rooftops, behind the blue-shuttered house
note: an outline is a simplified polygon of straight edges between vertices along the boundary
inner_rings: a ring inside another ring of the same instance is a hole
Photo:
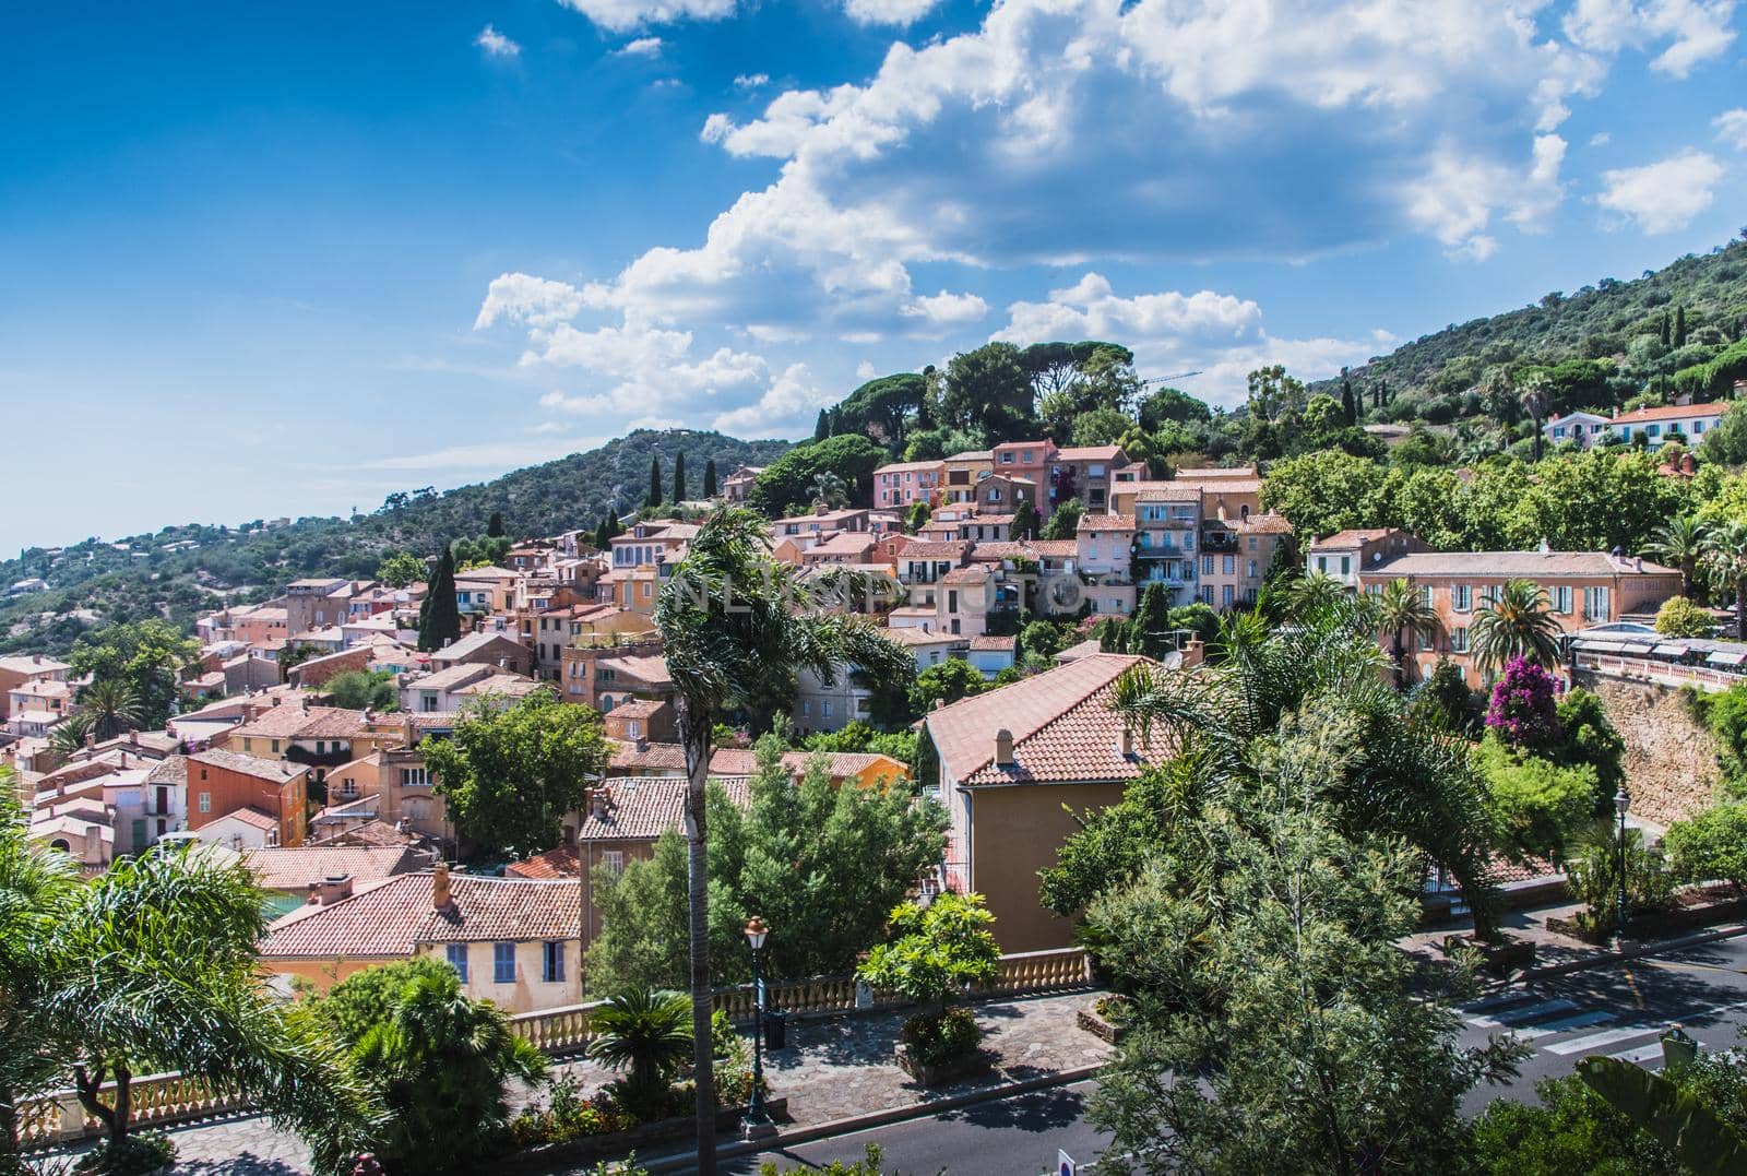
[[[536,690],[508,709],[470,704],[454,736],[425,744],[432,790],[456,832],[482,856],[524,856],[559,842],[559,821],[582,807],[608,762],[601,716]]]

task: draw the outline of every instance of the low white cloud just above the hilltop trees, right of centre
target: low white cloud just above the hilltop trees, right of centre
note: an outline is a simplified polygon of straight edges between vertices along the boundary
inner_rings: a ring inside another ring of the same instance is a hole
[[[1244,377],[1256,367],[1284,363],[1293,374],[1321,379],[1343,365],[1363,363],[1392,341],[1275,339],[1261,325],[1261,308],[1249,299],[1198,290],[1122,297],[1109,281],[1088,273],[1046,302],[1013,302],[1008,325],[994,339],[1015,344],[1048,339],[1116,339],[1134,351],[1141,374],[1195,370],[1183,379],[1195,395],[1219,404],[1244,398]]]

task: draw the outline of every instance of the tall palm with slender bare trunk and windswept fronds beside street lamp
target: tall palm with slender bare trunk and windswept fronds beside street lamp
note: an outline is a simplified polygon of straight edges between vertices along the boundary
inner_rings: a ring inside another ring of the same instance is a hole
[[[716,1171],[716,1090],[709,1017],[709,830],[704,785],[711,729],[718,718],[784,688],[800,669],[826,683],[846,668],[875,681],[907,683],[915,661],[868,622],[800,612],[805,596],[793,571],[770,559],[765,521],[751,510],[716,507],[655,601],[687,771],[687,847],[690,854],[692,1050],[697,1092],[697,1166]],[[860,573],[849,582],[872,591]]]

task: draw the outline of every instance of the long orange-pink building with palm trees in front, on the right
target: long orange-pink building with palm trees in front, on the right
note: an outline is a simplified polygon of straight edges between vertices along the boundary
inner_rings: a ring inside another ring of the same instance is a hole
[[[1564,633],[1618,620],[1625,613],[1654,612],[1681,594],[1681,571],[1635,557],[1599,550],[1417,550],[1366,563],[1359,571],[1364,592],[1380,594],[1391,580],[1406,580],[1438,615],[1438,629],[1408,638],[1410,676],[1424,678],[1440,657],[1448,657],[1473,687],[1485,685],[1474,666],[1474,610],[1495,599],[1511,580],[1529,580],[1546,596],[1546,608]],[[1394,636],[1382,638],[1392,645]]]

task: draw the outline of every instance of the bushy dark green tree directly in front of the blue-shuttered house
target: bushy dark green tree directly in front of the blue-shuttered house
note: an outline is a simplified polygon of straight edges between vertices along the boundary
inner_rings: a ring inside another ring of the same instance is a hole
[[[505,1083],[547,1073],[501,1010],[470,1000],[454,968],[428,956],[365,968],[309,1012],[388,1106],[377,1159],[390,1173],[479,1171],[507,1150]]]

